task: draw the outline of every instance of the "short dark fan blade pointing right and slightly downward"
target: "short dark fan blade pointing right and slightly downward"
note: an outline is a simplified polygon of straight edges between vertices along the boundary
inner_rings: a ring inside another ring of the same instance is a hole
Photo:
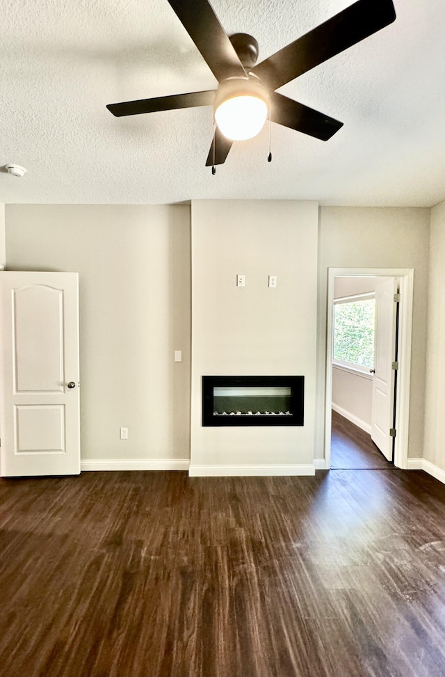
[[[270,120],[284,127],[296,129],[297,132],[321,138],[322,141],[327,141],[343,127],[343,122],[325,116],[277,92],[270,95]]]

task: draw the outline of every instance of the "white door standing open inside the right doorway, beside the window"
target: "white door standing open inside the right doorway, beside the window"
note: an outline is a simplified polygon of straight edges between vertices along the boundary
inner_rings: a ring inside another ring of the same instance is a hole
[[[397,279],[389,278],[375,286],[375,373],[371,439],[388,461],[392,461],[390,430],[394,417],[394,369],[396,353]]]

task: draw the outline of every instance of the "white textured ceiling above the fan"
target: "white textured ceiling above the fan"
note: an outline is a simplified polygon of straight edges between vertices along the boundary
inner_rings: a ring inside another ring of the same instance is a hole
[[[212,0],[262,61],[351,0]],[[342,120],[327,142],[273,125],[211,175],[210,107],[115,118],[108,103],[213,89],[167,0],[0,0],[0,201],[319,200],[430,207],[445,198],[445,3],[397,19],[280,89]]]

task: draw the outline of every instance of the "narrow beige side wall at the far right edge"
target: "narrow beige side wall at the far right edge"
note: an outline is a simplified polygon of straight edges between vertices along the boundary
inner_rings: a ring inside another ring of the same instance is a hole
[[[431,210],[429,291],[423,457],[445,470],[445,202]]]

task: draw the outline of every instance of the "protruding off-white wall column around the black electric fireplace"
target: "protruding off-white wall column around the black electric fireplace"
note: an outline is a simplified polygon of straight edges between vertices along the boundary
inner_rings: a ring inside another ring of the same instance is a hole
[[[191,472],[313,468],[317,229],[314,202],[192,202]],[[206,374],[303,374],[304,427],[202,427]]]

